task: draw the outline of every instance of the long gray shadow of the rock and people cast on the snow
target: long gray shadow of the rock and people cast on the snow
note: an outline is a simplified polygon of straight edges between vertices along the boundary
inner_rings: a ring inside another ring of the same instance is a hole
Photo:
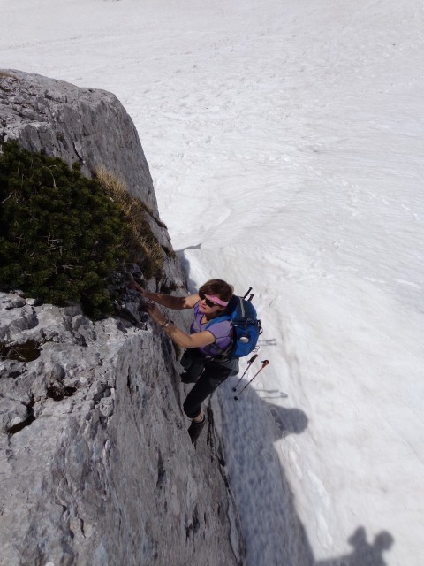
[[[300,409],[286,409],[266,401],[267,398],[287,397],[278,390],[262,390],[261,393],[272,395],[264,397],[248,386],[239,401],[235,401],[233,388],[238,381],[237,376],[229,378],[217,391],[223,408],[225,469],[232,478],[231,491],[240,510],[246,564],[386,566],[382,555],[390,550],[393,537],[390,532],[382,531],[369,543],[363,526],[348,539],[351,553],[315,561],[274,446],[276,440],[304,432],[307,415]],[[260,410],[258,403],[267,403],[269,411]],[[289,449],[287,465],[295,467],[297,455],[292,453],[293,449]],[[229,450],[231,454],[228,454]]]

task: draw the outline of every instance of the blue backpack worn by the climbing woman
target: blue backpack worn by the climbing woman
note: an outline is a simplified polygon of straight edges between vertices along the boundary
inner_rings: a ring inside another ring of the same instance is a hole
[[[254,305],[252,304],[253,294],[246,300],[247,294],[250,293],[252,287],[249,288],[244,297],[232,295],[227,308],[220,317],[213,318],[205,330],[210,325],[223,320],[230,320],[232,324],[232,343],[227,348],[222,357],[225,359],[234,359],[248,356],[254,348],[262,333],[261,320],[258,319]]]

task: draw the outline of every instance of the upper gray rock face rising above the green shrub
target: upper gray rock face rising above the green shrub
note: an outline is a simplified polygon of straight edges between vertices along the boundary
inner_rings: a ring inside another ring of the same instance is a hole
[[[133,120],[110,92],[0,70],[0,143],[79,161],[91,177],[105,166],[157,214],[148,163]]]

